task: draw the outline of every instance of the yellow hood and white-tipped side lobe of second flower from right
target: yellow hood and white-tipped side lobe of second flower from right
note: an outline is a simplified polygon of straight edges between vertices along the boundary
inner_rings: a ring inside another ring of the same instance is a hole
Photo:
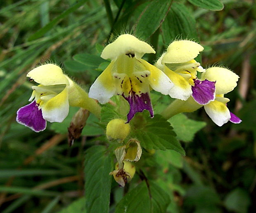
[[[174,41],[156,62],[155,66],[163,70],[174,84],[169,92],[172,98],[185,101],[192,95],[192,87],[197,86],[197,71],[205,71],[194,60],[203,49],[204,47],[193,41]],[[212,95],[211,99],[214,97]]]

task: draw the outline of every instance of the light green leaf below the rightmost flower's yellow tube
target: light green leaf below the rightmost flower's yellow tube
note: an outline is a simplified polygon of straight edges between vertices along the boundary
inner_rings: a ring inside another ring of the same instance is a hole
[[[192,141],[195,133],[206,126],[206,122],[194,121],[187,118],[184,114],[175,115],[168,119],[168,121],[173,126],[177,139],[184,142]]]

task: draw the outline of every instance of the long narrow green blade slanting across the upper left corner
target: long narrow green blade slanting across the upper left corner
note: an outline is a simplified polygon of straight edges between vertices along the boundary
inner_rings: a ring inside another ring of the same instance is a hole
[[[43,28],[41,28],[36,33],[34,33],[30,37],[28,37],[28,41],[35,40],[35,39],[42,37],[45,33],[47,33],[49,30],[51,30],[57,23],[59,23],[64,17],[69,15],[71,12],[74,12],[78,7],[81,7],[86,1],[87,0],[81,0],[78,3],[76,3],[75,5],[73,5],[72,7],[69,7],[69,9],[62,12],[62,14],[60,14],[55,19],[53,19],[52,21],[47,23],[47,25],[45,25]]]

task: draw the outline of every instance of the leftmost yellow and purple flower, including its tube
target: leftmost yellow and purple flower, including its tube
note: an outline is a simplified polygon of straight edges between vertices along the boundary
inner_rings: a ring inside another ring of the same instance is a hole
[[[32,86],[32,102],[17,111],[16,120],[33,131],[43,131],[46,121],[62,122],[69,114],[69,105],[100,113],[99,105],[55,64],[34,68],[27,77],[39,85]]]

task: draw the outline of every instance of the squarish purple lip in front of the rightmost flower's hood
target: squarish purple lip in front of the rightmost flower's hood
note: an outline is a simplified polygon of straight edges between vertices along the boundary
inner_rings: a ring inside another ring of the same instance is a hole
[[[202,105],[206,105],[215,99],[215,83],[212,81],[194,80],[194,86],[192,86],[192,97],[194,100]]]

